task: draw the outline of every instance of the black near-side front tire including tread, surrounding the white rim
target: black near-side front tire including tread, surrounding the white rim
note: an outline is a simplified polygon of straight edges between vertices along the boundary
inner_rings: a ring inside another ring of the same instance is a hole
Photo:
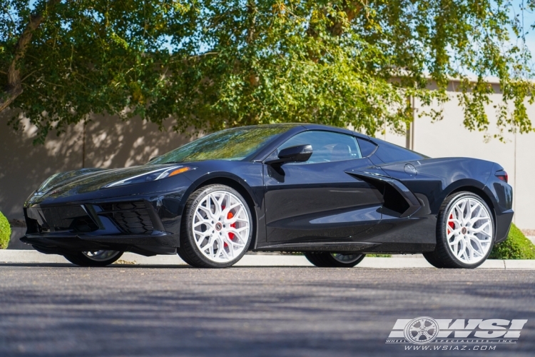
[[[195,209],[201,200],[205,198],[205,196],[208,196],[208,194],[214,191],[227,191],[236,196],[243,203],[249,218],[250,229],[247,242],[245,243],[243,251],[232,261],[217,262],[210,260],[200,251],[195,243],[195,237],[193,236],[193,215],[195,214]],[[251,208],[249,207],[245,198],[243,198],[243,196],[232,187],[222,184],[213,184],[199,188],[197,191],[191,194],[191,196],[188,198],[188,201],[185,203],[183,221],[180,225],[180,248],[178,248],[178,255],[183,261],[185,261],[185,263],[188,263],[190,266],[194,266],[195,268],[226,268],[228,266],[233,266],[233,264],[237,263],[243,257],[245,252],[248,251],[250,242],[253,238],[255,222],[250,210]]]

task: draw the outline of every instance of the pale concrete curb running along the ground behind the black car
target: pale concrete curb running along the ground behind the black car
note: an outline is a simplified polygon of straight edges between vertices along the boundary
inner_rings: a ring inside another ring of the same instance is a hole
[[[421,255],[404,258],[365,258],[360,268],[432,268]],[[0,264],[70,264],[63,256],[43,254],[38,251],[0,251]],[[116,264],[137,266],[185,266],[178,256],[140,256],[124,253]],[[235,266],[312,266],[304,256],[245,255]],[[535,260],[488,260],[480,269],[529,269],[535,270]]]

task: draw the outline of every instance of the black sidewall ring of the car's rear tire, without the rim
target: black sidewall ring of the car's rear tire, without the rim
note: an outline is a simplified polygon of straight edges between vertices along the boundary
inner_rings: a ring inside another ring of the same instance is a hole
[[[481,203],[489,212],[489,216],[491,218],[491,223],[492,223],[491,247],[489,248],[489,251],[486,252],[486,255],[484,256],[484,258],[481,259],[481,261],[478,261],[477,263],[472,263],[472,264],[459,261],[459,259],[456,256],[454,256],[452,249],[449,248],[449,243],[447,241],[447,236],[446,236],[446,226],[448,223],[447,220],[449,216],[449,211],[452,209],[452,206],[454,206],[454,204],[456,204],[462,198],[472,198],[472,199],[479,201],[479,203]],[[459,268],[477,268],[482,263],[484,263],[487,258],[489,258],[492,248],[494,247],[494,241],[496,241],[496,222],[494,220],[494,215],[492,213],[492,210],[491,208],[489,208],[489,205],[486,204],[484,199],[478,196],[477,194],[470,193],[470,192],[459,192],[450,199],[446,207],[444,207],[444,209],[439,213],[437,236],[442,240],[442,244],[444,245],[444,251],[446,251],[447,255],[452,260],[452,262],[454,262]]]

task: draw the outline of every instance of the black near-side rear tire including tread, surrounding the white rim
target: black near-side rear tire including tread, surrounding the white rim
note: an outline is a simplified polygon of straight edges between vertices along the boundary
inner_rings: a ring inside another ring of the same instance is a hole
[[[477,261],[476,263],[466,263],[464,261],[459,260],[456,256],[454,256],[454,253],[449,248],[448,242],[447,242],[447,224],[448,224],[448,213],[451,210],[452,206],[456,204],[458,201],[460,201],[462,198],[472,198],[474,200],[479,201],[479,203],[486,208],[486,210],[489,213],[489,218],[491,220],[491,227],[492,227],[492,237],[491,237],[491,246],[489,250],[486,252],[486,255],[481,258],[480,261]],[[437,268],[477,268],[480,266],[484,261],[486,261],[486,258],[489,257],[492,246],[494,245],[494,241],[496,240],[496,223],[494,222],[494,216],[492,215],[492,211],[489,208],[489,206],[486,204],[483,198],[478,196],[475,193],[468,192],[468,191],[462,191],[457,193],[452,193],[450,196],[447,196],[447,198],[442,202],[442,205],[440,206],[439,215],[437,217],[437,246],[435,247],[433,252],[424,253],[424,258],[427,259],[427,261]]]

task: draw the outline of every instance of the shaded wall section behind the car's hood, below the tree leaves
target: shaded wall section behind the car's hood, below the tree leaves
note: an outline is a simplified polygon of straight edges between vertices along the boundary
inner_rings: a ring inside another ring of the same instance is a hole
[[[14,132],[11,114],[0,113],[0,211],[8,219],[24,218],[24,200],[56,172],[80,169],[83,162],[83,125],[71,126],[60,137],[51,135],[44,146],[33,146],[34,129]],[[145,164],[158,154],[190,139],[161,132],[154,124],[135,118],[95,116],[86,126],[86,167],[117,168]]]

